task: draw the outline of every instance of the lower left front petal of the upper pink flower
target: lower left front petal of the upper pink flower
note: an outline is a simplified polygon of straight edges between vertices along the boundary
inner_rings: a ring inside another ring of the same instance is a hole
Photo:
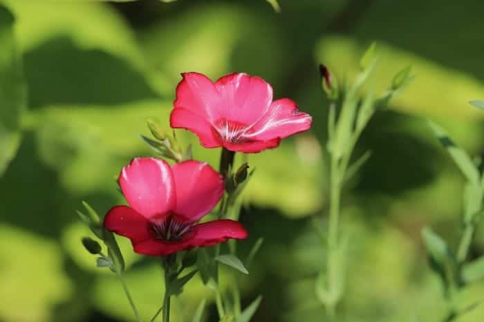
[[[170,126],[174,129],[187,129],[192,131],[198,136],[200,143],[205,146],[205,148],[222,146],[212,125],[203,117],[200,117],[185,108],[175,108],[171,112]]]

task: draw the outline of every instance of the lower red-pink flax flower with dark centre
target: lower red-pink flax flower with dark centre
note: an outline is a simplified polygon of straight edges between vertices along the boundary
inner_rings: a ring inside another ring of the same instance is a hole
[[[160,159],[136,158],[122,169],[119,183],[130,207],[113,207],[104,227],[131,239],[138,254],[165,256],[247,237],[234,220],[196,224],[223,194],[221,176],[206,163],[170,167]]]

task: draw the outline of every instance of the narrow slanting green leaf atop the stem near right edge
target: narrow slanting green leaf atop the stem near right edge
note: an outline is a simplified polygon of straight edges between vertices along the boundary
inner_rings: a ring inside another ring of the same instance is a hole
[[[447,133],[435,124],[434,122],[429,121],[429,126],[434,134],[440,141],[440,143],[447,149],[447,152],[450,154],[454,162],[456,163],[457,167],[463,173],[463,175],[472,183],[477,183],[479,180],[479,173],[472,162],[472,159],[469,157],[467,153],[460,147],[456,146],[456,144],[449,138]]]

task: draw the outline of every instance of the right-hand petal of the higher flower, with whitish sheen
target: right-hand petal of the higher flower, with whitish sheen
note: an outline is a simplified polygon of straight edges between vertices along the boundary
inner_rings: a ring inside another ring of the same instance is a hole
[[[287,138],[289,135],[310,129],[312,118],[300,112],[292,100],[283,98],[270,104],[266,115],[252,128],[246,138],[254,140],[271,140]]]

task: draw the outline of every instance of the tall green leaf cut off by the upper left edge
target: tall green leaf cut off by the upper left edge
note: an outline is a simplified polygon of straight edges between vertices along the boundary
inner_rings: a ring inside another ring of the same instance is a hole
[[[26,110],[26,83],[14,35],[15,18],[0,6],[0,176],[14,158]]]

